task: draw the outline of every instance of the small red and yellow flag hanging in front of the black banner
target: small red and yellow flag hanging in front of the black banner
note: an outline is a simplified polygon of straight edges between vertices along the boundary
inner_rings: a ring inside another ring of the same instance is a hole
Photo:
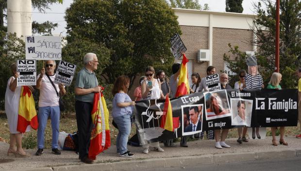
[[[161,118],[161,124],[160,127],[168,130],[173,131],[173,121],[172,121],[172,109],[171,109],[171,103],[169,101],[168,95],[165,99],[164,109],[163,109],[163,116]]]

